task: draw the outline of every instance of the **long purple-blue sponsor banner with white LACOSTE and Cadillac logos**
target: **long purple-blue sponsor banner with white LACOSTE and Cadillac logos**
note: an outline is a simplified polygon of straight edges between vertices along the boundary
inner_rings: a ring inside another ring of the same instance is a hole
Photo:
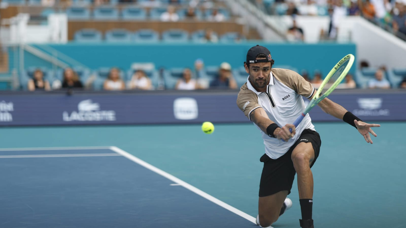
[[[406,120],[406,93],[333,94],[329,98],[365,121]],[[248,123],[236,99],[236,92],[2,95],[0,126]],[[311,110],[310,117],[313,121],[340,121],[319,107]]]

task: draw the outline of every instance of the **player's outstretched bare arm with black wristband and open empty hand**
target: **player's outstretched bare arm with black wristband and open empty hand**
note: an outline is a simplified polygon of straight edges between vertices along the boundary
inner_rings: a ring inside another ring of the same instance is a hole
[[[318,105],[320,106],[320,108],[322,108],[323,112],[330,114],[336,118],[339,118],[344,122],[354,126],[358,130],[358,132],[364,137],[366,142],[370,144],[373,143],[369,133],[371,133],[373,136],[376,137],[377,135],[371,129],[371,127],[380,127],[379,124],[369,124],[363,122],[360,118],[356,117],[351,112],[348,112],[348,110],[346,110],[343,106],[331,101],[327,97],[324,98],[322,101],[320,101]]]

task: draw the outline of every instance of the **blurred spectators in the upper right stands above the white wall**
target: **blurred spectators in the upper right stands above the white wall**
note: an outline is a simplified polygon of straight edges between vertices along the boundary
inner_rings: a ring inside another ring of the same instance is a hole
[[[322,39],[337,36],[339,20],[347,15],[361,15],[397,36],[406,37],[406,0],[253,0],[258,7],[276,15],[328,15],[328,31],[321,34]],[[281,7],[281,6],[285,6]],[[300,40],[300,31],[295,32]],[[301,32],[302,33],[302,32]]]

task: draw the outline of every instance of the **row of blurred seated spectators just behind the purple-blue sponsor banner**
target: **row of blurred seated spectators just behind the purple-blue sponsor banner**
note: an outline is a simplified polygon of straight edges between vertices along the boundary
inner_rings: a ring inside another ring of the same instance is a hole
[[[361,62],[362,65],[365,62]],[[374,77],[367,82],[367,88],[369,89],[390,89],[391,84],[385,76],[385,67],[380,67],[374,73]],[[302,77],[308,82],[311,82],[317,89],[323,82],[324,76],[321,71],[316,70],[313,73],[309,73],[307,70],[299,72]],[[162,89],[156,88],[151,82],[151,78],[148,77],[142,69],[135,69],[134,73],[125,79],[122,77],[123,72],[117,67],[110,69],[108,76],[104,80],[104,90],[155,90]],[[162,76],[162,75],[161,75]],[[248,77],[248,74],[243,75]],[[66,68],[63,71],[62,82],[54,80],[52,83],[48,82],[44,78],[44,73],[41,69],[35,70],[32,78],[28,81],[28,90],[58,90],[58,89],[92,89],[95,76],[93,75],[86,82],[82,82],[78,74],[72,68]],[[175,90],[198,90],[198,89],[238,89],[241,85],[235,80],[233,70],[228,62],[222,62],[218,67],[218,72],[214,77],[207,77],[205,73],[205,67],[203,60],[197,59],[194,63],[194,68],[184,68],[181,75],[176,78]],[[244,83],[244,81],[242,82]],[[52,85],[51,85],[52,84]],[[240,83],[241,84],[241,83]],[[354,81],[353,75],[348,73],[343,82],[337,88],[357,88],[357,84]],[[393,88],[406,89],[406,75],[403,80],[397,86]]]

